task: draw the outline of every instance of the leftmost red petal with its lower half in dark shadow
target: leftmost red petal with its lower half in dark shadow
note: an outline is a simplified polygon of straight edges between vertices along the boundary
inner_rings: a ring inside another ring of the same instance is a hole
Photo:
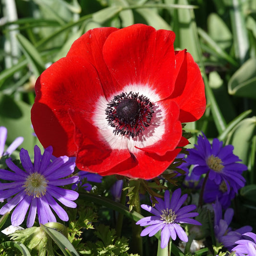
[[[90,110],[103,91],[94,67],[79,57],[62,58],[37,79],[31,120],[39,141],[56,157],[74,156],[74,126],[68,109]]]

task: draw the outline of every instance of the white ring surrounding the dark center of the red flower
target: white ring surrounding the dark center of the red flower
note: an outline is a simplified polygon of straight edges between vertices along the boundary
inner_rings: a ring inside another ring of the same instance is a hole
[[[122,92],[129,93],[131,91],[145,96],[154,105],[154,113],[150,125],[145,127],[145,131],[134,138],[129,135],[113,134],[115,128],[108,124],[105,113],[109,102],[103,96],[100,97],[95,104],[92,121],[94,125],[98,127],[100,134],[111,149],[128,149],[131,153],[136,153],[140,151],[140,149],[135,148],[135,146],[140,148],[151,146],[161,139],[162,135],[165,133],[165,117],[167,114],[165,108],[161,106],[160,98],[156,94],[156,91],[150,89],[148,85],[127,85],[122,91],[117,92],[115,95],[119,95]],[[112,98],[115,95],[113,95]]]

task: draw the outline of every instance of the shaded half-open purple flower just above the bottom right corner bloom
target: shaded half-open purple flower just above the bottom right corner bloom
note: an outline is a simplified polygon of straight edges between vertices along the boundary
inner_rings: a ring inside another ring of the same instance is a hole
[[[214,233],[217,240],[222,243],[228,250],[231,250],[234,246],[235,242],[242,237],[244,232],[252,231],[251,226],[244,226],[240,229],[232,231],[232,228],[229,227],[233,215],[234,210],[232,208],[228,208],[224,213],[224,219],[222,218],[222,208],[218,201],[212,205],[214,209]]]

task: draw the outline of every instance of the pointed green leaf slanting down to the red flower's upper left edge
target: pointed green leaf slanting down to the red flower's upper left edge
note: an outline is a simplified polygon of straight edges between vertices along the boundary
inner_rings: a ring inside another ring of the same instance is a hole
[[[45,70],[44,61],[41,59],[39,52],[23,35],[17,34],[17,39],[33,68],[35,76],[39,76]]]

